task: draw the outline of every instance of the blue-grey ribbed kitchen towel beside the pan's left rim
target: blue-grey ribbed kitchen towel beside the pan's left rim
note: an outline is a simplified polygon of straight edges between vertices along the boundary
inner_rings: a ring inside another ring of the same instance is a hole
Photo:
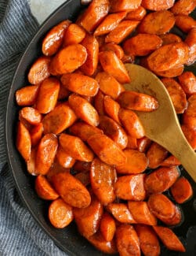
[[[26,0],[0,0],[0,256],[66,255],[23,206],[6,164],[6,98],[20,55],[37,29]]]

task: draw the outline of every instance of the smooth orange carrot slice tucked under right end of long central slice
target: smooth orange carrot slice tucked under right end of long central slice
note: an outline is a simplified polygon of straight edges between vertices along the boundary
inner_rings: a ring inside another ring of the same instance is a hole
[[[117,165],[117,173],[143,173],[147,169],[148,159],[138,150],[124,150],[127,161],[124,165]]]

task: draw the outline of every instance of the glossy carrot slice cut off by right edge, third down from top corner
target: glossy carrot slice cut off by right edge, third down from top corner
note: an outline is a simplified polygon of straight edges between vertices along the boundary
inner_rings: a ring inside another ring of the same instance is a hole
[[[189,46],[189,58],[186,64],[191,65],[196,60],[196,28],[190,30],[184,43],[187,43],[187,46]]]

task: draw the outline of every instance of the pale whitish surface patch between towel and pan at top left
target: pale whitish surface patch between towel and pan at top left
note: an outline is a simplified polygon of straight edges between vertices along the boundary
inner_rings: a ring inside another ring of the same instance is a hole
[[[38,23],[49,17],[49,14],[62,5],[66,0],[30,0],[31,12],[37,18]]]

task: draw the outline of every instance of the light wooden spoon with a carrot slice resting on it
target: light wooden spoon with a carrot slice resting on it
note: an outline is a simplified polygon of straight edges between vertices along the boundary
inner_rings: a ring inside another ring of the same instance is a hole
[[[147,137],[178,158],[196,182],[196,154],[183,135],[171,98],[162,81],[140,65],[125,64],[125,68],[131,79],[131,83],[125,84],[126,90],[151,95],[158,100],[159,106],[155,111],[136,111]]]

